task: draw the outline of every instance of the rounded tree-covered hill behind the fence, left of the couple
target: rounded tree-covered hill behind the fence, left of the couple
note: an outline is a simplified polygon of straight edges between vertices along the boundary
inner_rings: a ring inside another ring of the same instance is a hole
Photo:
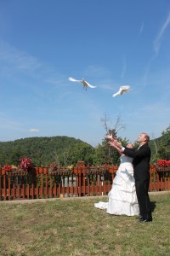
[[[74,137],[28,137],[0,142],[0,165],[18,165],[20,157],[31,158],[35,166],[49,166],[52,162],[70,165],[76,164],[77,160],[90,161],[89,154],[94,150],[88,143]]]

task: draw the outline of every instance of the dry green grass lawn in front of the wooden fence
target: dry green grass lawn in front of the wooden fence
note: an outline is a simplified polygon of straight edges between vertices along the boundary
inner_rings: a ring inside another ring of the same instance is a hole
[[[153,222],[145,224],[109,215],[97,201],[0,203],[0,255],[170,255],[170,194],[150,195]]]

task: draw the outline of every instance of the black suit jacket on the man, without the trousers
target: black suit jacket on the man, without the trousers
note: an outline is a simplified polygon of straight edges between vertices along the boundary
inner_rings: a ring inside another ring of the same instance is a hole
[[[123,154],[133,157],[134,178],[136,181],[150,181],[150,147],[145,143],[139,150],[126,148]]]

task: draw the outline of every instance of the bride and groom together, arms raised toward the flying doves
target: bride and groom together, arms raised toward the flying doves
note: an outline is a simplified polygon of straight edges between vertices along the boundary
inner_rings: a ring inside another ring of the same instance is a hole
[[[109,201],[95,203],[94,207],[105,209],[114,215],[139,216],[139,222],[152,221],[149,197],[150,185],[150,137],[142,132],[138,137],[139,148],[132,143],[122,146],[111,135],[105,137],[109,145],[121,154],[121,164],[116,172]]]

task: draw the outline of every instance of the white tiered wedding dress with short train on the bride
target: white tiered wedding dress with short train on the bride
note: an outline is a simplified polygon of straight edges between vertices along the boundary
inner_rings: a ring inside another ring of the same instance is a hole
[[[124,154],[120,157],[121,164],[113,180],[109,201],[95,203],[94,207],[105,209],[114,215],[139,215],[139,204],[133,177],[133,159]]]

